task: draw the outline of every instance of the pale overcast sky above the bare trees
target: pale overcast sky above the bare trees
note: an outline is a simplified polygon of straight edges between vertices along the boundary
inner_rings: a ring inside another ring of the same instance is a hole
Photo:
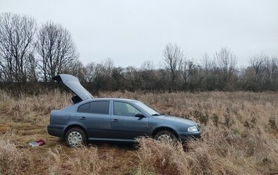
[[[158,63],[168,42],[199,60],[229,47],[238,65],[264,52],[278,56],[278,0],[0,0],[0,12],[31,15],[67,28],[83,63]]]

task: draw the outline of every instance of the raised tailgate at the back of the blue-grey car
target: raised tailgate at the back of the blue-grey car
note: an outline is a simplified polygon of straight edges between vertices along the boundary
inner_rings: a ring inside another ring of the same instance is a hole
[[[75,76],[69,74],[58,74],[57,76],[54,76],[53,79],[54,81],[62,82],[67,88],[76,94],[76,97],[72,98],[74,103],[83,101],[85,99],[94,99],[90,92],[85,90],[85,88],[79,83],[78,78]]]

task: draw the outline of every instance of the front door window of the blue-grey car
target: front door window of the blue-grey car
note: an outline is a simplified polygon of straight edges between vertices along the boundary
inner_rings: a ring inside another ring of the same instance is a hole
[[[140,113],[138,109],[136,109],[134,106],[131,106],[129,103],[114,101],[113,107],[114,115],[134,117],[137,113]]]

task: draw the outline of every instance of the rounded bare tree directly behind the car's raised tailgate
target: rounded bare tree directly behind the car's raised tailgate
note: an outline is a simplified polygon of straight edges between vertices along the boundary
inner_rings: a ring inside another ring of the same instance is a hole
[[[47,22],[40,28],[36,50],[44,81],[50,81],[53,76],[62,73],[64,67],[78,58],[70,32],[53,22]]]

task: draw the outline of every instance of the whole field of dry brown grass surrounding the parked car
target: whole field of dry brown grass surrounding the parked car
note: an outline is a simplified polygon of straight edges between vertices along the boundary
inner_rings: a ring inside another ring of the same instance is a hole
[[[71,94],[13,97],[0,91],[0,174],[278,174],[278,94],[272,92],[105,92],[139,99],[162,113],[197,121],[202,140],[162,144],[91,143],[71,149],[47,133],[51,110]],[[43,139],[41,147],[28,145]]]

